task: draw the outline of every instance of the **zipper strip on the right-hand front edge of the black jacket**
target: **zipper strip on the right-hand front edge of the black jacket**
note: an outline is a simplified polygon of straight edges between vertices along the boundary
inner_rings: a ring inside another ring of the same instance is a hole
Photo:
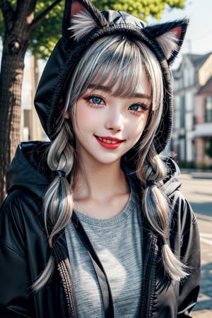
[[[155,293],[155,269],[156,269],[156,242],[157,235],[153,234],[146,272],[143,275],[142,297],[141,297],[141,318],[151,317],[151,307]]]

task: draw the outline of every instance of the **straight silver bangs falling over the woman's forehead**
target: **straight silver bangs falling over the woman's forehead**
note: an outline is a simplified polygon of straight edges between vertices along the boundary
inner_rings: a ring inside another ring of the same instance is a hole
[[[91,83],[117,89],[114,96],[131,97],[135,95],[146,72],[139,47],[129,40],[123,40],[110,46],[107,52],[102,52],[100,61],[96,61],[95,73]],[[119,85],[116,85],[116,84]],[[133,83],[133,85],[132,85]]]

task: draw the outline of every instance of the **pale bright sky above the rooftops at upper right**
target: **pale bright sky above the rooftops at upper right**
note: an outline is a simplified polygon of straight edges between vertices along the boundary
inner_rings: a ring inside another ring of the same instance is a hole
[[[187,0],[184,9],[166,10],[161,22],[184,17],[189,18],[190,22],[182,47],[182,54],[212,52],[212,1]]]

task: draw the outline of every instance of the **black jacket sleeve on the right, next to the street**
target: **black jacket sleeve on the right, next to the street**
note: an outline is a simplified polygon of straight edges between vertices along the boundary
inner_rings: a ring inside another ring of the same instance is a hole
[[[179,251],[180,259],[187,266],[189,273],[180,283],[177,317],[186,318],[191,317],[189,312],[192,311],[199,295],[201,278],[199,228],[192,207],[179,191],[177,191],[177,198],[175,197],[173,201],[175,211],[177,208],[173,227],[177,233],[180,233],[178,248],[175,247],[175,250]]]

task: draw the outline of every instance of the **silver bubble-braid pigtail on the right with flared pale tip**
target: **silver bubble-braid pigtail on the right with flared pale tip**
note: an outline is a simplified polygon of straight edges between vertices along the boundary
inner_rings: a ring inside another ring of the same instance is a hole
[[[179,281],[188,275],[187,266],[175,256],[167,244],[170,228],[170,207],[167,197],[157,187],[157,182],[165,179],[166,167],[159,155],[150,148],[143,168],[138,176],[143,184],[142,213],[143,220],[154,232],[160,236],[163,266],[167,276],[174,281]],[[139,174],[139,172],[137,172]],[[146,181],[144,181],[146,180]]]

